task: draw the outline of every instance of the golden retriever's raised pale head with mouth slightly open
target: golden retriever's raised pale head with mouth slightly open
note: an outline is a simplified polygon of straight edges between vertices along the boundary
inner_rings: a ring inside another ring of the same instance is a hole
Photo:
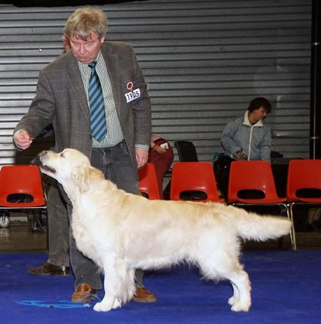
[[[60,153],[44,151],[40,161],[41,171],[61,183],[70,198],[75,186],[80,193],[89,190],[89,174],[99,172],[90,165],[87,156],[71,148]]]

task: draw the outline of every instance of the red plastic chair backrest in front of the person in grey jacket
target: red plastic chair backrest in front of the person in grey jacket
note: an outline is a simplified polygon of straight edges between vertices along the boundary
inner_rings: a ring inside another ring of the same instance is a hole
[[[241,198],[244,191],[261,191],[263,198]],[[268,161],[233,161],[230,167],[228,202],[243,203],[279,203],[285,198],[279,198],[276,193],[271,165]]]

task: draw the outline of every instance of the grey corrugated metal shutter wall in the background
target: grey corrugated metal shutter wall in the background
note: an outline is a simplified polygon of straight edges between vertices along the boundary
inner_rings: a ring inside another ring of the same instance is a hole
[[[226,123],[268,98],[272,150],[308,157],[311,1],[147,0],[97,6],[107,38],[131,43],[152,101],[153,133],[193,141],[200,160],[222,151]],[[63,52],[74,7],[0,6],[0,165],[27,163],[51,138],[16,153],[12,131],[40,68]],[[177,157],[176,157],[177,160]]]

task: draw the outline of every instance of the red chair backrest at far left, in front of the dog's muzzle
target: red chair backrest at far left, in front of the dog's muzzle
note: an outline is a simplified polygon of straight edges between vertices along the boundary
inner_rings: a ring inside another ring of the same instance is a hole
[[[16,202],[10,197],[30,195],[32,201]],[[28,208],[46,204],[40,169],[37,165],[6,165],[1,169],[0,206]]]

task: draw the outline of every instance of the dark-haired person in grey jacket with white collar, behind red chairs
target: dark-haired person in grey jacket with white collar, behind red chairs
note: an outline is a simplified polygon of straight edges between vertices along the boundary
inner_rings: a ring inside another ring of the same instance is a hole
[[[224,155],[214,162],[218,188],[227,196],[230,164],[234,160],[266,160],[270,162],[271,129],[264,121],[271,112],[271,103],[263,98],[254,98],[243,117],[230,121],[225,126],[221,144]]]

